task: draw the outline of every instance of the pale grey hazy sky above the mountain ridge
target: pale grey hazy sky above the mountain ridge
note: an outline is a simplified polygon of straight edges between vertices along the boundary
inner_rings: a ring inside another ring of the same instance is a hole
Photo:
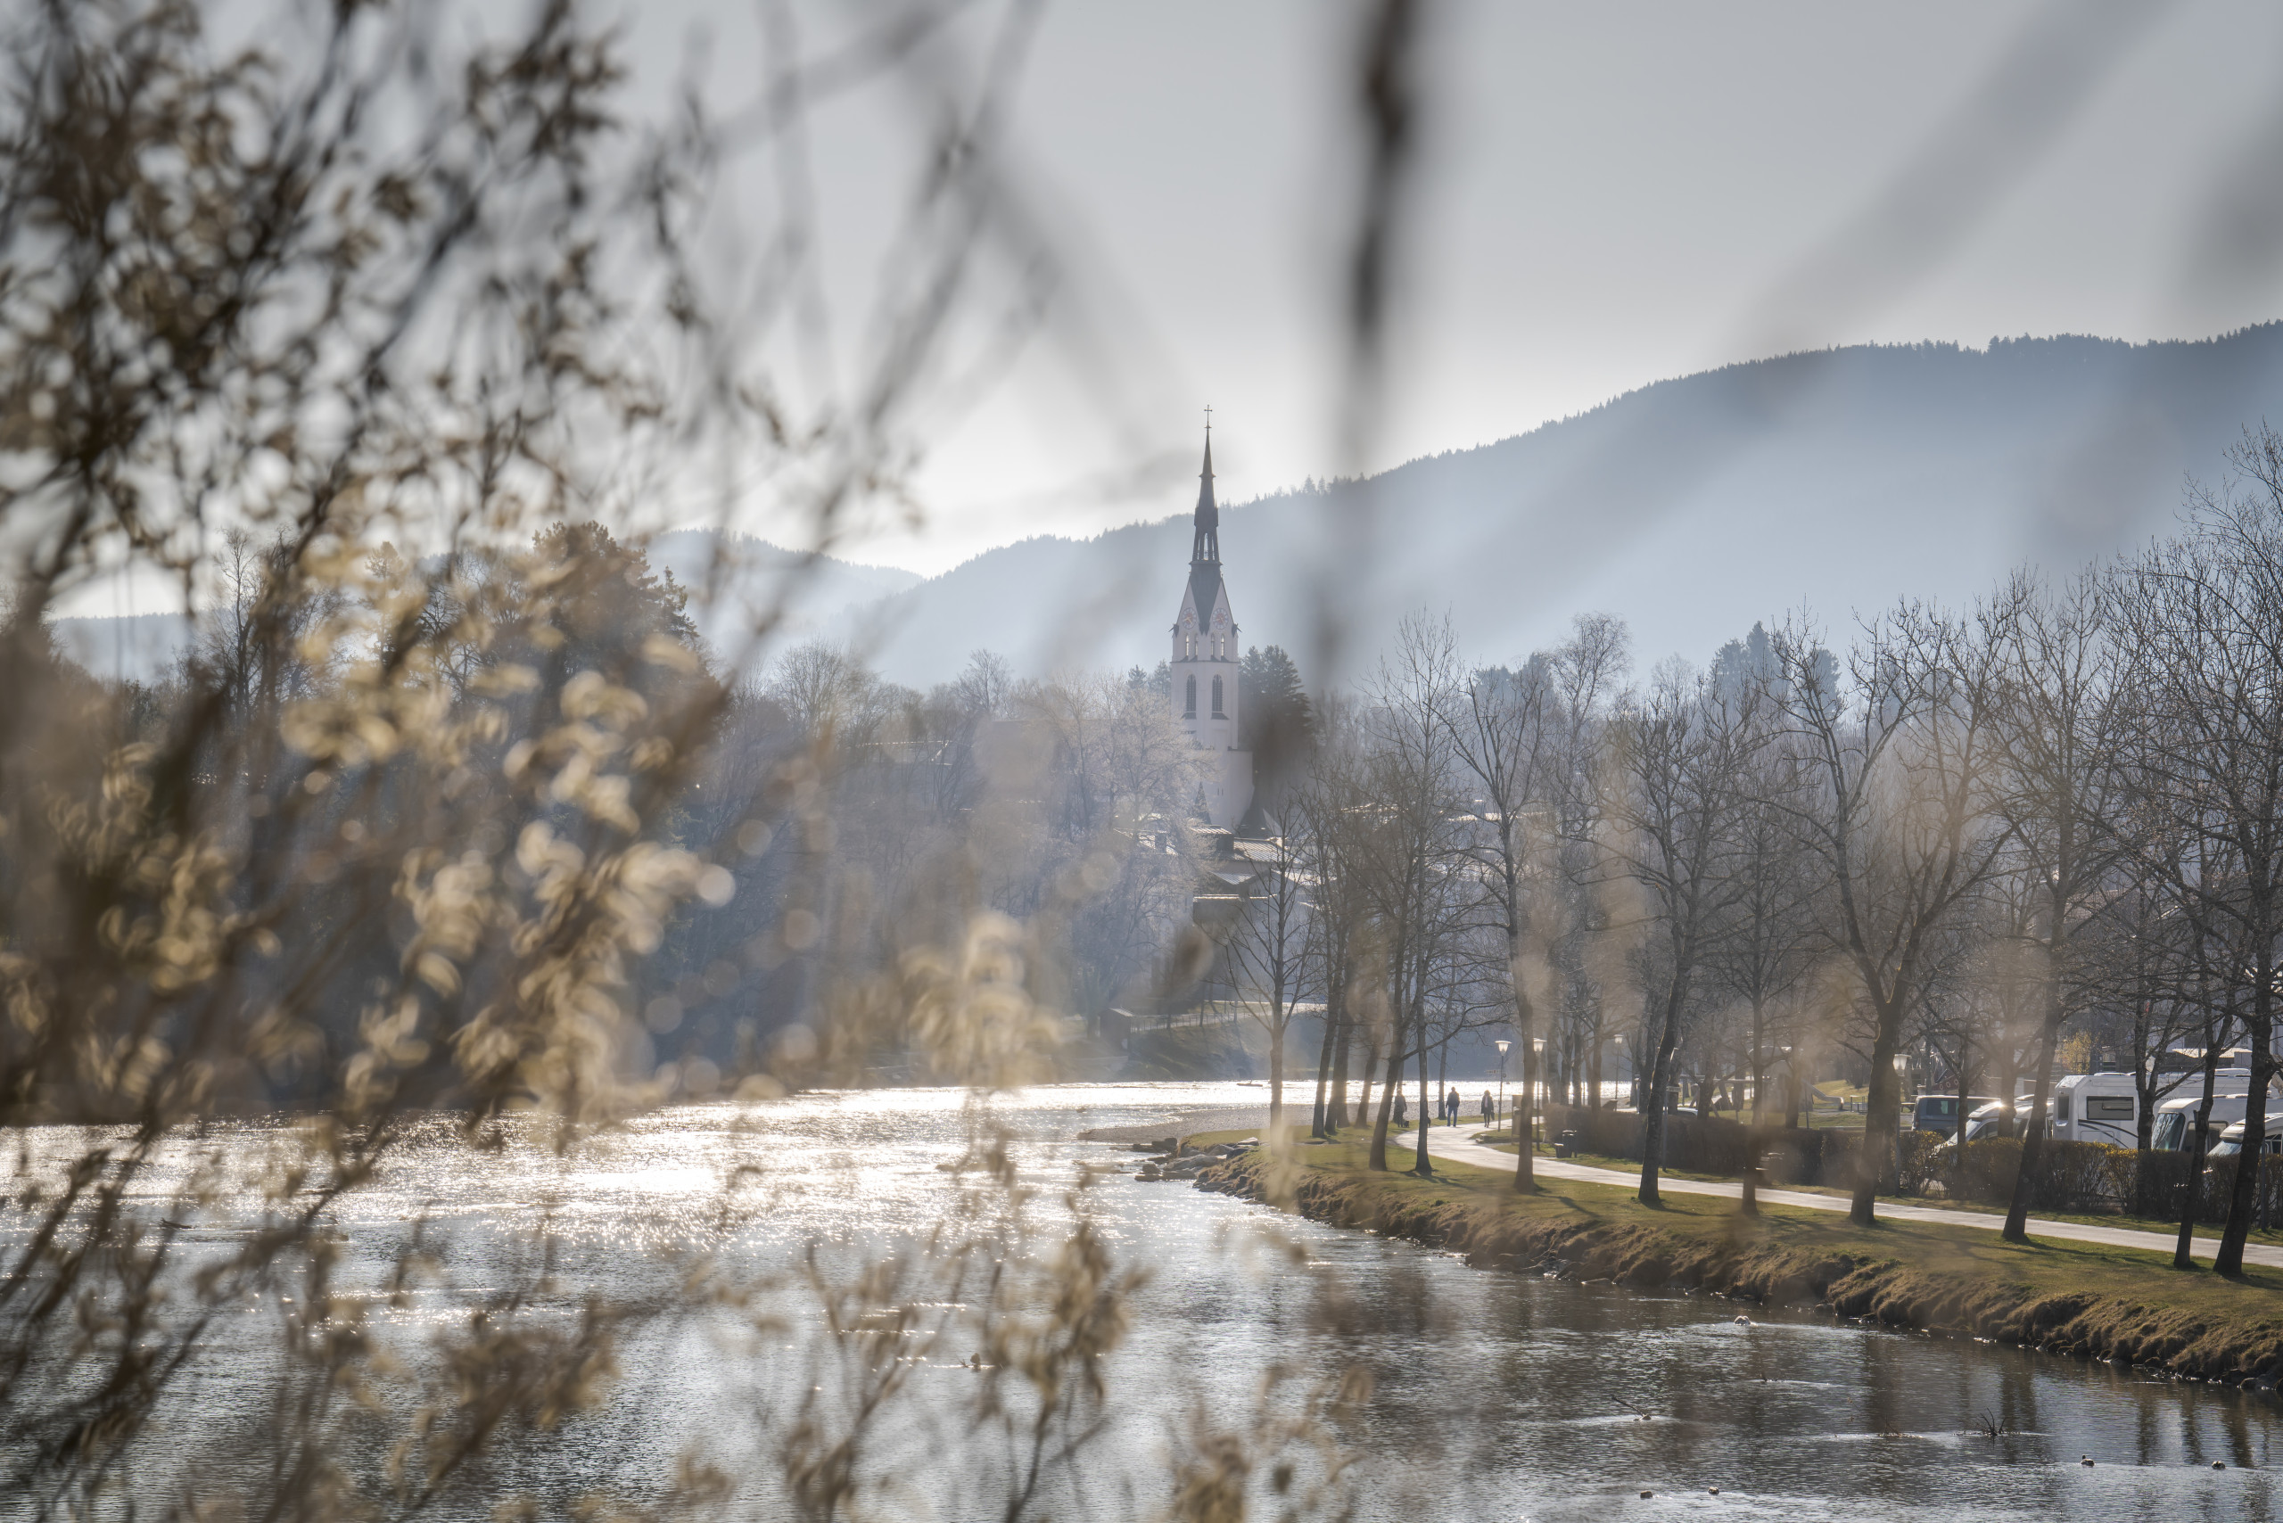
[[[1365,464],[1459,450],[1760,354],[1863,340],[2192,338],[2276,315],[2283,7],[1429,5],[1390,402]],[[797,14],[822,55],[849,18]],[[966,87],[1009,11],[934,53]],[[637,80],[758,69],[744,11],[628,11]],[[1354,464],[1331,427],[1354,7],[1050,5],[1000,142],[1057,274],[979,400],[934,416],[918,518],[842,553],[943,571]],[[703,46],[692,48],[692,37]],[[918,169],[909,82],[815,112],[833,313]],[[726,171],[767,219],[779,160]],[[735,260],[735,240],[724,244]],[[861,317],[824,345],[861,372]],[[744,527],[783,534],[767,500]]]

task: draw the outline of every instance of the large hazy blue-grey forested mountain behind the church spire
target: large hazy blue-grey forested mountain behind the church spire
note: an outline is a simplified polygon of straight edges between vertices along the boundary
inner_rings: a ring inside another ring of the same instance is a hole
[[[1361,543],[1326,493],[1224,509],[1228,591],[1247,644],[1294,653],[1308,569],[1329,564],[1361,651],[1406,607],[1447,605],[1473,655],[1507,660],[1600,607],[1632,623],[1644,667],[1703,660],[1801,603],[1826,623],[1906,594],[1959,603],[2023,559],[2068,569],[2164,532],[2185,475],[2217,477],[2269,409],[2283,422],[2278,386],[2278,324],[1728,365],[1390,470]],[[1155,662],[1187,546],[1183,511],[991,550],[881,605],[877,658],[909,683],[975,646],[1027,669]]]

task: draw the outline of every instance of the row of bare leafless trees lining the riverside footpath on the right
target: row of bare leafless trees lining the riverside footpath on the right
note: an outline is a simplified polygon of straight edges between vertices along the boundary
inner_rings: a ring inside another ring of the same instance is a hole
[[[1267,1012],[1322,996],[1320,1133],[1349,1123],[1361,1078],[1386,1167],[1404,1064],[1425,1114],[1429,1059],[1468,1025],[1511,1032],[1525,1087],[1587,1105],[1616,1048],[1655,1201],[1685,1082],[1797,1123],[1801,1082],[1847,1069],[1867,1078],[1870,1222],[1915,1059],[1959,1094],[2034,1094],[2020,1238],[2064,1050],[2139,1073],[2141,1146],[2176,1048],[2210,1073],[2249,1046],[2265,1094],[2283,438],[2246,436],[2173,539],[2059,587],[2023,573],[1966,612],[1904,603],[1845,653],[1794,619],[1708,669],[1625,683],[1625,655],[1623,628],[1589,617],[1520,667],[1468,669],[1447,621],[1415,617],[1326,703],[1281,799],[1304,891],[1262,891],[1233,936]],[[2253,1105],[2244,1149],[2262,1135]],[[2221,1274],[2242,1267],[2251,1183]]]

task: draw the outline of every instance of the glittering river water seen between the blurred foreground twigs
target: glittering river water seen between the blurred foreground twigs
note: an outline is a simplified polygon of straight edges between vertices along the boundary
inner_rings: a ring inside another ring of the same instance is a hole
[[[1055,1238],[1082,1162],[1135,1162],[1078,1130],[1262,1098],[1237,1085],[1050,1087],[1002,1096],[993,1117],[1014,1128],[1016,1174],[1036,1192],[1030,1210]],[[418,1343],[511,1279],[541,1208],[559,1231],[562,1306],[584,1290],[639,1297],[662,1283],[664,1256],[692,1244],[749,1270],[815,1254],[833,1279],[945,1219],[961,1190],[947,1169],[975,1119],[966,1096],[941,1089],[678,1107],[562,1162],[475,1153],[438,1123],[379,1190],[342,1208],[345,1279],[379,1274],[425,1219],[420,1231],[447,1244],[452,1288],[384,1317],[386,1336]],[[721,1217],[724,1171],[740,1162],[758,1165],[760,1183],[751,1210]],[[1052,1493],[1057,1516],[1148,1516],[1187,1425],[1240,1425],[1272,1365],[1292,1372],[1290,1391],[1358,1365],[1372,1375],[1347,1429],[1358,1457],[1347,1482],[1365,1518],[2283,1512],[2267,1473],[2283,1461],[2276,1409],[2256,1395],[1806,1315],[1740,1324],[1728,1302],[1477,1272],[1130,1174],[1100,1176],[1084,1201],[1116,1260],[1151,1279],[1110,1361],[1105,1432]],[[219,1251],[228,1228],[208,1240]],[[813,1299],[794,1288],[765,1299],[772,1315],[758,1324],[699,1315],[632,1333],[614,1400],[500,1445],[486,1484],[571,1502],[596,1489],[639,1496],[687,1452],[749,1468],[740,1461],[769,1450],[799,1393],[836,1402],[840,1391],[826,1388],[845,1375],[845,1347],[820,1331]],[[242,1329],[224,1329],[164,1425],[153,1475],[224,1454],[233,1434],[265,1423],[267,1324],[247,1308]],[[986,1516],[977,1498],[1005,1457],[959,1427],[970,1354],[936,1345],[906,1361],[906,1416],[877,1450],[890,1486],[874,1498],[881,1516]],[[2002,1436],[1975,1432],[1984,1420]],[[2096,1464],[2082,1466],[2084,1454]],[[765,1482],[740,1507],[785,1516]],[[461,1516],[482,1512],[468,1502]]]

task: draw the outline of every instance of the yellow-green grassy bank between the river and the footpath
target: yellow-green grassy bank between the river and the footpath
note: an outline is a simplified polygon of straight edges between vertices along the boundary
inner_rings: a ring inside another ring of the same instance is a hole
[[[1208,1142],[1205,1137],[1192,1142]],[[1361,1144],[1310,1144],[1208,1169],[1224,1190],[1452,1249],[1479,1267],[1687,1288],[1767,1306],[1826,1308],[1888,1327],[1970,1333],[2185,1379],[2283,1377],[2283,1270],[2244,1281],[2091,1242],[2011,1244],[1970,1226],[1854,1226],[1826,1210],[1546,1180],[1516,1194],[1504,1171],[1436,1160],[1436,1178],[1372,1174]]]

